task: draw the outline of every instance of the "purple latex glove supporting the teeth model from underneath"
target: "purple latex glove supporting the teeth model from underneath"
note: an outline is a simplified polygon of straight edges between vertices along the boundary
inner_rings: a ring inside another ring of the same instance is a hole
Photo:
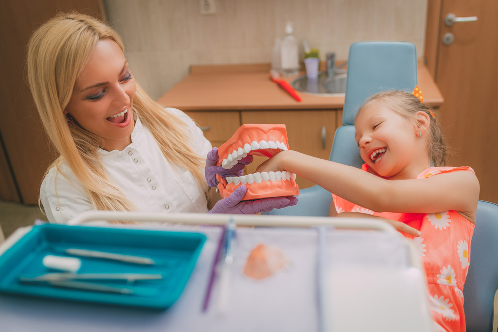
[[[294,196],[262,198],[241,202],[246,191],[247,188],[241,185],[230,196],[218,201],[208,213],[256,214],[297,204],[297,197]]]

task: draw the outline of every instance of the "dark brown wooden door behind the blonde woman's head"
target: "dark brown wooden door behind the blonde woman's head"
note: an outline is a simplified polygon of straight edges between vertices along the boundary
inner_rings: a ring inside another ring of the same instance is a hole
[[[36,204],[54,158],[26,83],[26,46],[34,29],[57,12],[104,19],[100,0],[0,1],[0,199]]]

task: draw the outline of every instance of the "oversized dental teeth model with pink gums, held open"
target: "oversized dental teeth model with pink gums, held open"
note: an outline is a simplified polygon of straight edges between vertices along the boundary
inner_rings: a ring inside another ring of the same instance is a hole
[[[288,150],[287,130],[283,124],[244,124],[232,137],[218,148],[217,165],[231,169],[239,160],[248,156],[272,157]],[[290,172],[263,172],[244,176],[230,176],[226,179],[216,176],[218,190],[223,198],[241,185],[248,189],[243,200],[279,196],[296,196],[299,187],[296,174]]]

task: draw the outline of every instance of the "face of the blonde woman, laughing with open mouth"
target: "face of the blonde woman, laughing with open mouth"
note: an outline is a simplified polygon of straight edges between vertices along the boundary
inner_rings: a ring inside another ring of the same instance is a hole
[[[135,91],[123,51],[113,40],[101,39],[76,79],[64,114],[100,136],[102,148],[121,151],[131,143]]]

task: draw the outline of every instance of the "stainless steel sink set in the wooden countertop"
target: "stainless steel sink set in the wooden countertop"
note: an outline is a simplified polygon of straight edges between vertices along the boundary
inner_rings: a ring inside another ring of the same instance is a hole
[[[335,75],[327,76],[320,72],[316,80],[310,80],[306,75],[295,78],[291,85],[298,91],[321,96],[343,96],[346,92],[346,69],[337,69]]]

